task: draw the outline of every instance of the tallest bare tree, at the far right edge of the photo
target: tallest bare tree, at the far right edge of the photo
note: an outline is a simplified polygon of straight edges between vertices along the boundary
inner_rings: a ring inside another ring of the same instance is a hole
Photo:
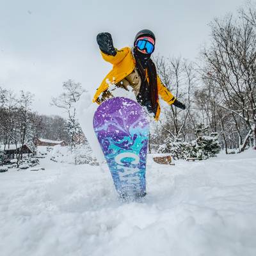
[[[202,52],[205,77],[220,88],[218,105],[232,113],[241,140],[239,149],[243,151],[251,134],[255,144],[256,134],[255,26],[243,16],[237,20],[229,16],[214,20],[211,29],[211,46]],[[241,134],[237,118],[247,129],[245,135]]]

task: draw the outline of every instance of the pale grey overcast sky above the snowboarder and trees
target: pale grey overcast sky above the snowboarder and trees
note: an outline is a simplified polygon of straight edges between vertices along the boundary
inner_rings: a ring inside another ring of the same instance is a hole
[[[39,113],[61,114],[50,106],[62,83],[74,79],[92,92],[111,69],[96,43],[108,31],[117,48],[131,46],[141,29],[156,35],[163,56],[195,60],[209,40],[207,24],[236,12],[242,0],[0,0],[0,86],[35,94]]]

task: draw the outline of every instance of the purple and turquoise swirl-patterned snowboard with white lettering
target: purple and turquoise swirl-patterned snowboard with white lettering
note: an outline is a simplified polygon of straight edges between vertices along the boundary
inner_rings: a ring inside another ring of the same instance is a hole
[[[146,111],[134,100],[111,98],[97,108],[93,128],[120,198],[145,196],[149,131]]]

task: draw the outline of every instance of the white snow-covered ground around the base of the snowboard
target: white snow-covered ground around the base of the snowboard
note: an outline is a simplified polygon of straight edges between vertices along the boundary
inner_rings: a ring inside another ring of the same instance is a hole
[[[0,173],[0,254],[256,255],[256,152],[162,166],[120,202],[99,166],[54,163]]]

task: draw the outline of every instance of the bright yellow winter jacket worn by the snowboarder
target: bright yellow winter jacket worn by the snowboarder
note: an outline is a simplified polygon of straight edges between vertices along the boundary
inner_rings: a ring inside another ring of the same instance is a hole
[[[102,92],[106,91],[109,88],[109,84],[115,84],[120,82],[126,76],[131,74],[136,66],[134,57],[132,56],[131,48],[124,47],[116,52],[115,56],[111,56],[101,52],[102,58],[113,65],[113,69],[108,73],[108,75],[103,79],[95,95],[93,96],[93,102],[99,102],[99,96]],[[172,93],[163,85],[159,76],[157,76],[157,90],[158,94],[162,97],[164,101],[168,104],[173,104],[175,97]],[[156,120],[159,119],[161,108],[159,106],[159,101],[157,101],[157,112]]]

